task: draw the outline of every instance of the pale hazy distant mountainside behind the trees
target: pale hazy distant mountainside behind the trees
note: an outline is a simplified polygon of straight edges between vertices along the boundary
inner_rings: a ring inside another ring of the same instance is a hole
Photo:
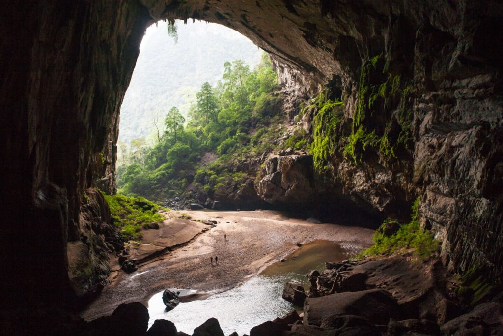
[[[240,58],[253,68],[260,50],[239,33],[214,23],[177,21],[178,43],[159,22],[147,29],[120,116],[119,140],[130,142],[155,131],[172,106],[186,115],[195,94],[208,81],[215,84],[225,61]]]

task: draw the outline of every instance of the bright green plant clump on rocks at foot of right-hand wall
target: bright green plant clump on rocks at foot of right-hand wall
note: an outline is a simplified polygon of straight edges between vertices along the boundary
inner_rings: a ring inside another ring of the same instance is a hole
[[[425,259],[436,252],[440,247],[439,241],[434,238],[431,231],[422,228],[417,221],[418,201],[419,198],[414,201],[409,223],[400,225],[395,234],[386,236],[384,228],[392,220],[385,220],[374,232],[374,244],[362,251],[357,258],[369,255],[389,255],[395,251],[413,249],[414,255],[419,259]]]

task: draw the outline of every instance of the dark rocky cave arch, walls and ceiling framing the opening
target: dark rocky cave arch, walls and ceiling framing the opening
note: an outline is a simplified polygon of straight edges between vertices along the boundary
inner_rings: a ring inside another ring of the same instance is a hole
[[[4,5],[0,102],[1,121],[10,127],[0,152],[7,223],[0,248],[11,257],[0,277],[12,289],[6,302],[17,306],[35,293],[58,305],[73,301],[66,252],[67,242],[80,239],[83,230],[82,194],[102,176],[108,178],[103,188],[115,191],[118,110],[141,36],[149,23],[175,18],[218,22],[262,46],[276,59],[292,99],[340,77],[348,117],[358,103],[361,65],[382,53],[392,73],[420,88],[413,106],[414,151],[408,164],[397,165],[404,174],[391,180],[385,170],[374,171],[377,178],[370,180],[368,169],[348,167],[345,172],[364,178],[343,191],[378,210],[386,209],[392,194],[417,193],[423,220],[438,230],[453,267],[466,271],[479,264],[500,279],[503,43],[487,37],[503,28],[500,3],[59,5]]]

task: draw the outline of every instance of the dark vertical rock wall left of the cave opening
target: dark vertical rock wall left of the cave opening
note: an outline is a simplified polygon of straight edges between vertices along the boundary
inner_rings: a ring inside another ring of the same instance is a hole
[[[150,17],[135,1],[3,6],[3,300],[61,304],[83,294],[68,274],[67,245],[85,243],[85,191],[102,178],[100,187],[115,189],[118,111]],[[106,280],[87,276],[90,289]]]

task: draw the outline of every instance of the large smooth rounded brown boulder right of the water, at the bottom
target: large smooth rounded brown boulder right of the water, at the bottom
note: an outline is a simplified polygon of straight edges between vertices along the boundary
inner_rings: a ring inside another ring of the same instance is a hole
[[[345,292],[307,298],[304,303],[304,324],[334,327],[341,315],[357,315],[373,324],[388,324],[399,316],[398,303],[382,289]]]

